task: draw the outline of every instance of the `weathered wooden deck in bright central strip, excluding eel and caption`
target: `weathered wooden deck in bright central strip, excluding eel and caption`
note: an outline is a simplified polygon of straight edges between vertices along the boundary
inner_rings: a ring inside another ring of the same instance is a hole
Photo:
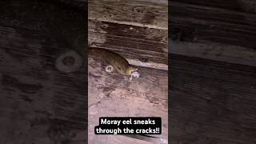
[[[108,74],[89,61],[89,143],[167,143],[167,1],[89,1],[88,44],[121,54],[141,78]],[[149,141],[95,135],[103,116],[160,116],[162,134]]]

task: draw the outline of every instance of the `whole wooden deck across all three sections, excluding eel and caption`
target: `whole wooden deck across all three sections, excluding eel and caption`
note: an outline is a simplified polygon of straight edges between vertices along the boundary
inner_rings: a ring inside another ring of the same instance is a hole
[[[43,1],[0,2],[0,143],[82,144],[89,139],[95,144],[146,144],[166,143],[167,135],[170,144],[256,143],[253,1],[173,0],[170,10],[166,1],[109,1],[89,1],[88,44],[134,60],[142,77],[130,83],[90,58],[88,118],[87,61],[73,73],[55,66],[68,50],[85,57],[82,12],[64,8],[52,14],[56,3],[42,6]],[[87,10],[82,2],[64,3]],[[35,9],[27,9],[31,5]],[[67,25],[61,25],[62,15],[69,15]],[[51,18],[56,18],[54,27],[64,30],[62,37],[47,27]],[[169,42],[174,42],[169,43],[169,59],[167,25]],[[150,142],[95,136],[98,117],[110,114],[161,116],[162,134]]]

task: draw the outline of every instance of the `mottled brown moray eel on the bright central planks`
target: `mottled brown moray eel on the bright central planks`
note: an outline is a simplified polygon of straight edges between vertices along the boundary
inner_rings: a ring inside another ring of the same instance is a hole
[[[114,53],[110,50],[89,48],[88,57],[102,59],[104,62],[113,66],[114,70],[117,70],[118,73],[122,75],[131,75],[137,70],[134,66],[130,66],[126,58],[123,58],[120,54]]]

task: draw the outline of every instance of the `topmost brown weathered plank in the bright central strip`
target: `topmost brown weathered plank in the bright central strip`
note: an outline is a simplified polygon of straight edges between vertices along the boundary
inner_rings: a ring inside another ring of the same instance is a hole
[[[88,15],[102,22],[167,30],[167,6],[166,0],[92,0],[88,2]]]

